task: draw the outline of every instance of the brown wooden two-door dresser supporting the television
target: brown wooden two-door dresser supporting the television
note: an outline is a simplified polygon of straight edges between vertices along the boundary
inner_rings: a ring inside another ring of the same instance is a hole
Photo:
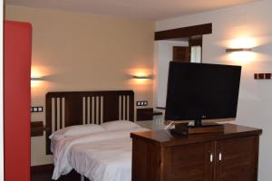
[[[257,181],[261,129],[225,124],[222,133],[131,133],[132,181]]]

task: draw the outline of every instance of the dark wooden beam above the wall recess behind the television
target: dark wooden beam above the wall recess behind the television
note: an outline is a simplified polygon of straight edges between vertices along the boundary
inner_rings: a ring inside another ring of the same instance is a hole
[[[155,32],[155,41],[191,37],[212,33],[212,24],[199,24],[183,28]]]

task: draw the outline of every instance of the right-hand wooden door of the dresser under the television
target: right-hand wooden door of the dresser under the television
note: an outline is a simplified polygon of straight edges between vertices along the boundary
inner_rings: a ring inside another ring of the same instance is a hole
[[[216,181],[257,180],[258,137],[231,138],[216,145]]]

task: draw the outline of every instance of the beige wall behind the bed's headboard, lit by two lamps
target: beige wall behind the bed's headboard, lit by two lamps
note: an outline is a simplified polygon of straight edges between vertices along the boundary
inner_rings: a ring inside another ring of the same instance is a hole
[[[15,5],[5,18],[33,25],[32,76],[44,81],[32,81],[32,106],[45,106],[48,91],[134,90],[135,101],[152,107],[152,81],[132,75],[153,71],[153,22]],[[44,113],[32,121],[45,121]],[[52,163],[45,135],[31,141],[31,165]]]

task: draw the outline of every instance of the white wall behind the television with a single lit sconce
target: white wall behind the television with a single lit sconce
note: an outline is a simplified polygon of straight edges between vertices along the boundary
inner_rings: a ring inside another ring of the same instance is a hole
[[[272,177],[272,81],[256,81],[253,74],[272,72],[271,7],[272,1],[265,0],[156,23],[156,31],[212,23],[213,33],[203,36],[203,62],[242,65],[236,123],[263,129],[258,167],[260,181],[270,181]],[[238,59],[235,54],[225,52],[228,47],[238,47],[238,43],[253,47],[253,52],[239,54]]]

